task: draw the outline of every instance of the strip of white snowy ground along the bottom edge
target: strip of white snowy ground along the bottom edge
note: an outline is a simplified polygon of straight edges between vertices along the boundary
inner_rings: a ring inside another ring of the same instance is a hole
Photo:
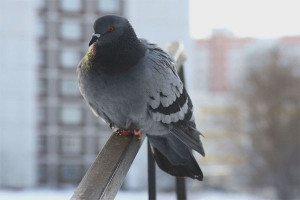
[[[0,190],[0,200],[66,200],[70,199],[74,190]],[[143,200],[148,199],[147,192],[123,192],[120,191],[116,200]],[[158,200],[175,200],[175,193],[159,193]],[[216,191],[188,194],[189,200],[267,200],[249,194],[228,194]]]

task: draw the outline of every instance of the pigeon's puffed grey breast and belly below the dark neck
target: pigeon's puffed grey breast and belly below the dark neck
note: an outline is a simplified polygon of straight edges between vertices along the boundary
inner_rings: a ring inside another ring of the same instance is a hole
[[[80,90],[100,116],[105,114],[119,128],[140,128],[147,117],[147,86],[142,66],[109,76],[88,71],[79,75]],[[104,118],[104,117],[103,117]]]

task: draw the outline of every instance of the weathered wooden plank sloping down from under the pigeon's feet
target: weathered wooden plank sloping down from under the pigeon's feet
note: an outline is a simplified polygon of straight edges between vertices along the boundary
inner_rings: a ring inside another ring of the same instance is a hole
[[[114,199],[144,139],[112,133],[71,200]]]

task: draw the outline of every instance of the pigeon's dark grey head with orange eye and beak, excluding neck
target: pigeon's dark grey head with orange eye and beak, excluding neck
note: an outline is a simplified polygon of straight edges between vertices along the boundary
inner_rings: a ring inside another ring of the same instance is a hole
[[[97,42],[98,45],[110,44],[123,35],[136,38],[134,30],[128,20],[117,15],[106,15],[95,21],[94,34],[89,46],[95,42]]]

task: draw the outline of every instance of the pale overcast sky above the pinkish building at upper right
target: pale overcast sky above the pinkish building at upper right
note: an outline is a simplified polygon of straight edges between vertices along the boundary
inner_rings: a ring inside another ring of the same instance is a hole
[[[193,38],[213,29],[237,37],[300,35],[300,0],[190,0],[190,19]]]

